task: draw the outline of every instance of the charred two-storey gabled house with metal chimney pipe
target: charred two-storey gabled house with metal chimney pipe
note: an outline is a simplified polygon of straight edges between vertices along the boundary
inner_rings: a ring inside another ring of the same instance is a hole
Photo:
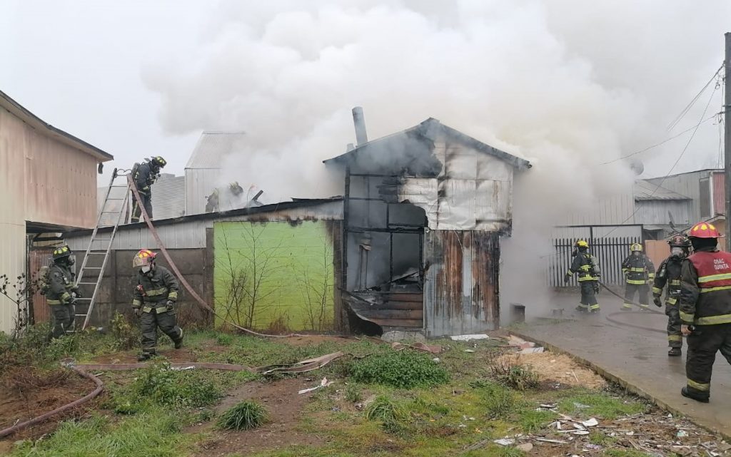
[[[342,300],[355,322],[429,337],[499,326],[500,237],[531,164],[439,120],[325,161],[345,170]],[[370,324],[368,324],[370,323]]]

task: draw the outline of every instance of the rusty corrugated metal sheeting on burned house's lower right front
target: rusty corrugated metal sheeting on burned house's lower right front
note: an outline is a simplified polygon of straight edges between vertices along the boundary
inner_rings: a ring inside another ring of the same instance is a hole
[[[498,328],[499,234],[428,231],[424,259],[424,320],[429,337]]]

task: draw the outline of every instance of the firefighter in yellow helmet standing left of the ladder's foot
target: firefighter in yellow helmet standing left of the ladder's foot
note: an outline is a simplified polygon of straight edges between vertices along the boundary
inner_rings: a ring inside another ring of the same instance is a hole
[[[53,329],[48,335],[48,340],[63,337],[74,326],[74,304],[81,295],[78,286],[74,284],[74,274],[71,272],[71,266],[74,264],[72,255],[73,252],[68,246],[57,247],[53,250],[53,263],[48,266],[45,296],[53,315]]]

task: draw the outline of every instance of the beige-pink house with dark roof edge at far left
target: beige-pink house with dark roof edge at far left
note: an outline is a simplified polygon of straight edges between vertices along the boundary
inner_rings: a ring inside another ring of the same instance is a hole
[[[97,170],[112,159],[0,92],[0,274],[11,285],[48,262],[50,248],[39,239],[49,237],[40,235],[94,227]],[[18,307],[0,295],[0,331],[17,318]]]

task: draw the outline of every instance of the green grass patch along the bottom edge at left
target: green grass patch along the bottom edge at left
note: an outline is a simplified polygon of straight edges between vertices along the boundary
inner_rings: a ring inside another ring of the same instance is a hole
[[[114,423],[94,416],[83,422],[61,423],[48,439],[24,442],[12,457],[177,457],[192,436],[180,433],[173,415],[155,410]]]

